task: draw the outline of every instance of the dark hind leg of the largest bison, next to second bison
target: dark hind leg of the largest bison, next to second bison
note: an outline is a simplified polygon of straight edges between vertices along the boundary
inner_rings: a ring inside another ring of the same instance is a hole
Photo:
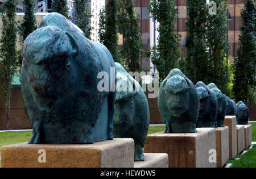
[[[108,139],[113,139],[113,116],[115,110],[115,92],[110,92],[108,95],[108,105],[109,105],[109,113],[108,113]]]

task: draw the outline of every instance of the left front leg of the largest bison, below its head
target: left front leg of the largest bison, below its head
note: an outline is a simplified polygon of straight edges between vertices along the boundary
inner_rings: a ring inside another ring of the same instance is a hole
[[[41,121],[36,121],[33,126],[32,138],[28,142],[29,144],[42,144],[44,143],[44,130]]]

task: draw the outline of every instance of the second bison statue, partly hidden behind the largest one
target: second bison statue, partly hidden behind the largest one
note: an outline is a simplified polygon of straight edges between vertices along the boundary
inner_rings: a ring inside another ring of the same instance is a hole
[[[114,138],[133,138],[134,160],[144,161],[143,147],[150,122],[147,97],[139,83],[121,64],[115,63],[115,69],[117,70],[117,88],[120,87],[120,90],[117,89],[115,97],[113,136]]]

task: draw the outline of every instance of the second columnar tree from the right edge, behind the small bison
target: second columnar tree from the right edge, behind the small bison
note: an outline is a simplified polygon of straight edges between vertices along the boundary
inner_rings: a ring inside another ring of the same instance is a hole
[[[206,14],[206,39],[207,39],[207,53],[209,66],[203,66],[203,68],[209,68],[209,82],[213,82],[218,88],[228,95],[230,73],[228,60],[226,59],[229,52],[229,46],[227,45],[227,16],[226,6],[227,3],[224,0],[215,0],[216,2],[216,15]],[[203,73],[204,74],[204,73]]]

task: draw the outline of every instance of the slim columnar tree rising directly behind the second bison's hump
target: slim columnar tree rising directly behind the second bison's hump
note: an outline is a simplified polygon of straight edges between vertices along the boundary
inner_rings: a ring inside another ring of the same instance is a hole
[[[133,0],[119,0],[117,9],[118,31],[123,37],[121,61],[129,72],[141,71],[142,38]]]

